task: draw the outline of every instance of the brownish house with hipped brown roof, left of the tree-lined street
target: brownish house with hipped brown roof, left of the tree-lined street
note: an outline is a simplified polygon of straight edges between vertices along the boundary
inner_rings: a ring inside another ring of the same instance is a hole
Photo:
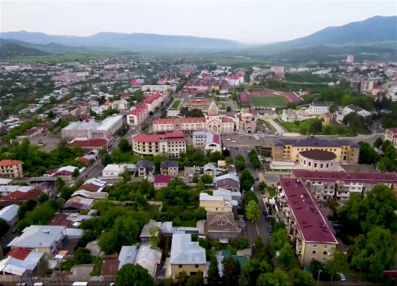
[[[210,239],[235,239],[241,229],[234,220],[233,213],[207,213],[204,232]]]

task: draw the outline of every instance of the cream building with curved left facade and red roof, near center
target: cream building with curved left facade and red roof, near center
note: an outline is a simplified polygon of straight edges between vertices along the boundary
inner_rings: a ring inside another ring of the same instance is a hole
[[[179,157],[186,152],[186,137],[183,132],[166,134],[132,135],[132,150],[139,156],[168,155],[170,158]]]

